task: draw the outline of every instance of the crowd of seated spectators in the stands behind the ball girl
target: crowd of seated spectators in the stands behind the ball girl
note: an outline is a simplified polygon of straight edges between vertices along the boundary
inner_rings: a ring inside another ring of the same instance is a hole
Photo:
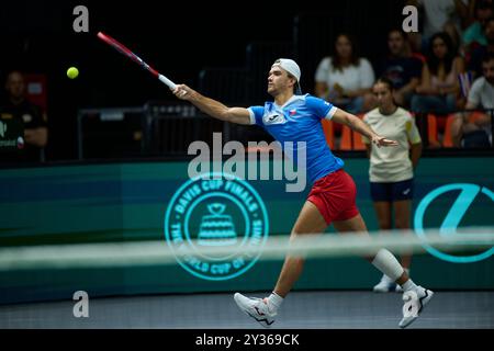
[[[315,94],[361,114],[375,107],[372,86],[377,78],[385,77],[394,84],[395,102],[413,113],[433,113],[446,120],[458,111],[494,109],[493,0],[408,3],[420,10],[419,32],[391,30],[389,53],[374,66],[360,55],[350,34],[337,35],[335,54],[324,57],[316,69]],[[489,113],[450,120],[447,133],[451,133],[453,146],[491,145]]]

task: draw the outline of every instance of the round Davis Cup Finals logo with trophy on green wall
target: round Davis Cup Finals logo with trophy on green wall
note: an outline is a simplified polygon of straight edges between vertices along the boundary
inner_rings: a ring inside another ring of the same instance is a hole
[[[229,174],[206,173],[173,194],[165,238],[192,275],[222,281],[247,272],[266,244],[269,220],[259,194]]]

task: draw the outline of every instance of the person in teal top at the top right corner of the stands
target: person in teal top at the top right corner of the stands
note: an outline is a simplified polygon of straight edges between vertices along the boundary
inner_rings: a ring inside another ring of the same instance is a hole
[[[487,45],[486,22],[494,14],[494,0],[475,1],[475,21],[463,32],[463,52],[470,53],[478,45]]]

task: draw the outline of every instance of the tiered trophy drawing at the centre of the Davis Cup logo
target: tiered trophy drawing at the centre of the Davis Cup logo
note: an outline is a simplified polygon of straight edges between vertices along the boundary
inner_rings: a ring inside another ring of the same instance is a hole
[[[212,203],[207,205],[210,214],[202,216],[198,244],[202,246],[227,246],[237,242],[237,234],[232,216],[223,214],[226,205]]]

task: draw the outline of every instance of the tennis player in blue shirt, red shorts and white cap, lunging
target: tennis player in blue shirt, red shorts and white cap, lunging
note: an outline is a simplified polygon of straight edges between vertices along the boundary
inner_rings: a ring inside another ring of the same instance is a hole
[[[173,93],[217,120],[244,125],[257,124],[282,146],[285,141],[292,141],[295,146],[297,141],[306,143],[306,171],[313,188],[293,226],[292,238],[323,233],[332,223],[340,233],[367,233],[366,224],[356,206],[357,190],[353,180],[343,169],[343,160],[329,150],[321,120],[346,124],[369,138],[377,147],[394,147],[397,143],[375,134],[357,116],[337,109],[329,102],[310,94],[303,95],[300,78],[301,70],[294,60],[277,59],[268,75],[268,93],[274,101],[248,109],[227,107],[184,84],[177,86]],[[403,287],[405,306],[416,306],[417,313],[409,314],[406,313],[407,308],[402,309],[404,316],[400,327],[408,326],[433,297],[433,292],[415,285],[395,257],[384,248],[368,260]],[[270,296],[260,299],[236,293],[235,302],[260,325],[270,327],[283,299],[301,275],[303,265],[304,258],[288,256]]]

